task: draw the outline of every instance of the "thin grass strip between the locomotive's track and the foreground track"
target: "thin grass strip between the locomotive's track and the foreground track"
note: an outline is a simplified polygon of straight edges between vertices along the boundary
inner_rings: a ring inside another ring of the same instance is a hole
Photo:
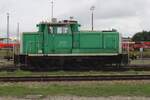
[[[51,71],[51,72],[30,72],[16,70],[14,72],[0,72],[0,77],[25,77],[25,76],[93,76],[93,75],[149,75],[150,71],[124,71],[124,72],[103,72],[103,71]]]

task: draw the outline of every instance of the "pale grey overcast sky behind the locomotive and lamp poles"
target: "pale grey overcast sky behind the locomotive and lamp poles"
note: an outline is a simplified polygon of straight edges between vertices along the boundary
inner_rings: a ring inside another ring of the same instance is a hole
[[[150,30],[150,0],[54,0],[54,17],[62,20],[73,16],[91,29],[90,7],[95,6],[94,29],[117,29],[123,36]],[[0,0],[0,36],[6,34],[6,13],[10,13],[10,32],[37,31],[36,24],[51,19],[51,0]]]

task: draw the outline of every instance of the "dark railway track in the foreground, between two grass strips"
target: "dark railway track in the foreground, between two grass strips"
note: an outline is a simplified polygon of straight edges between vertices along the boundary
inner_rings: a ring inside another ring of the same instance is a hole
[[[0,82],[59,82],[59,81],[119,81],[150,80],[150,75],[102,75],[102,76],[38,76],[0,77]]]

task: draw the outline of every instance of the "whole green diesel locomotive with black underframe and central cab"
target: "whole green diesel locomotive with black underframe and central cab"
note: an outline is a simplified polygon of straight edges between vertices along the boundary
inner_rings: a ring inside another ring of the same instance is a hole
[[[128,62],[117,31],[80,31],[73,20],[41,22],[37,27],[38,32],[22,34],[15,64],[34,69],[80,70]]]

